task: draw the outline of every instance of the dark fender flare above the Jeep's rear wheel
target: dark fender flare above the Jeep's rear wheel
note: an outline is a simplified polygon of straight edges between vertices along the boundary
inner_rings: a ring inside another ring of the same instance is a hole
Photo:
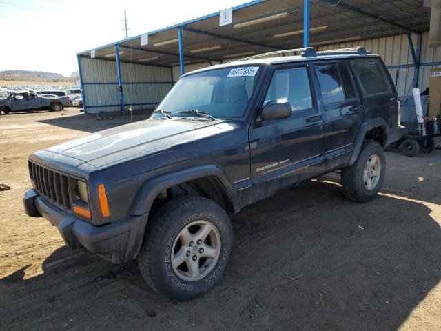
[[[365,140],[378,141],[384,148],[387,145],[387,123],[381,117],[369,119],[362,123],[358,129],[356,138],[353,142],[353,152],[348,165],[353,165],[360,154],[361,147]]]

